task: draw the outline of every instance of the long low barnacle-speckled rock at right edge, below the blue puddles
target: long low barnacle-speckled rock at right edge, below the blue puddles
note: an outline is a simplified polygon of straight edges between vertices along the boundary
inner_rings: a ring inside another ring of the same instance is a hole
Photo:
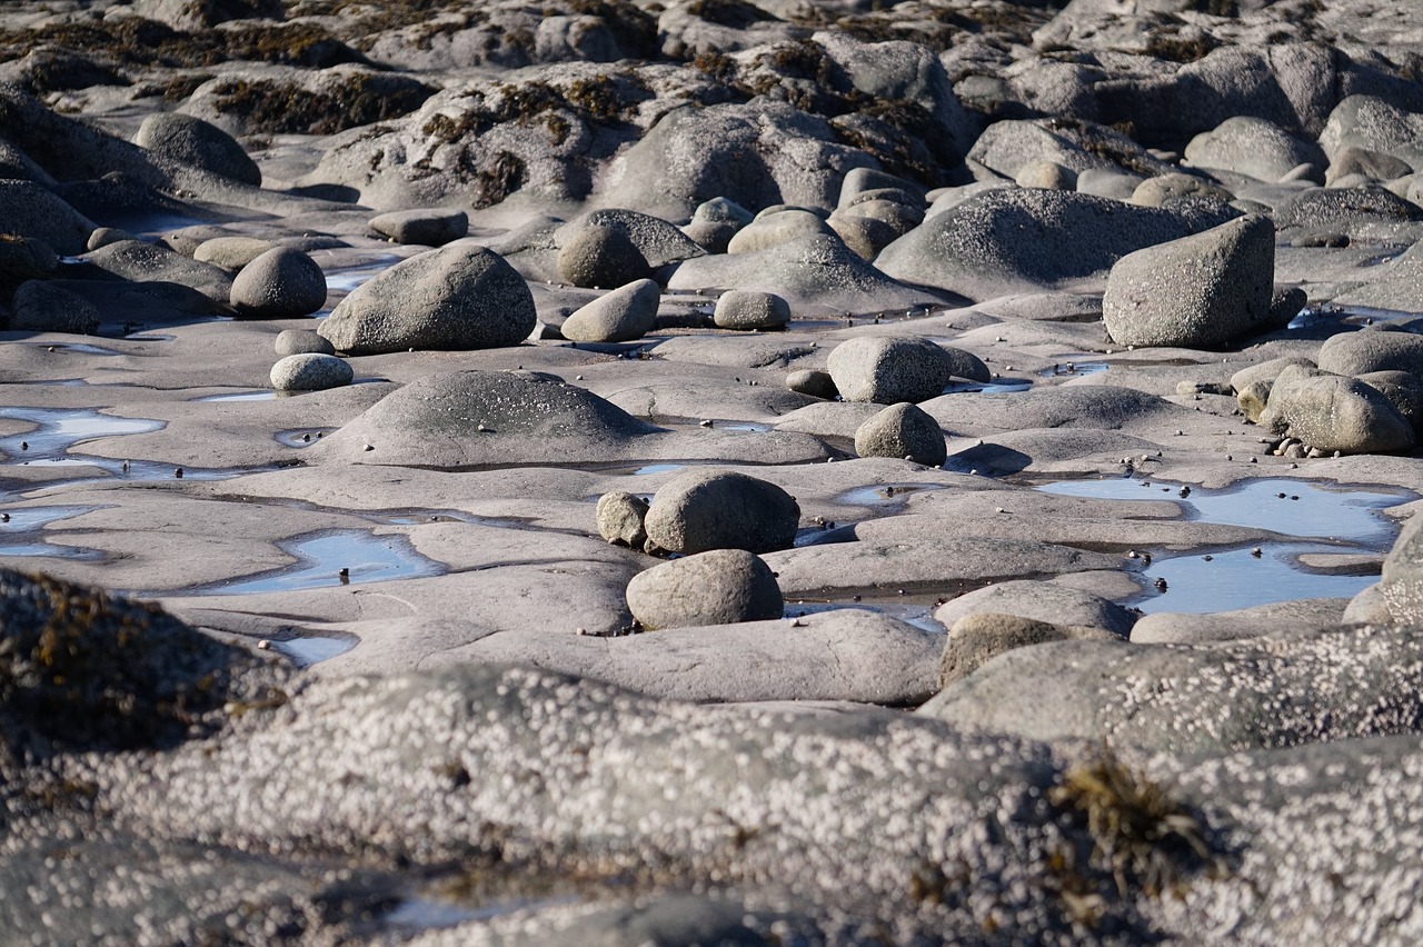
[[[1211,647],[1062,641],[1002,654],[919,712],[1035,739],[1106,739],[1170,754],[1412,734],[1420,648],[1405,627],[1332,627]]]

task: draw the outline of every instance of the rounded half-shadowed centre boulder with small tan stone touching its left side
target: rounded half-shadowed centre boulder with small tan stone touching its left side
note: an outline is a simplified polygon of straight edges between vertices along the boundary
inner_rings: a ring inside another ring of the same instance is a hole
[[[774,483],[746,474],[692,469],[657,491],[646,528],[647,540],[667,552],[766,553],[795,540],[800,505]]]

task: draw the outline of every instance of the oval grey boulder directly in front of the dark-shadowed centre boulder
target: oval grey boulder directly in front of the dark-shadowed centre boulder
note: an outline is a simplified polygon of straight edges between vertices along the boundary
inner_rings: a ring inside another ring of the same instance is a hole
[[[628,607],[649,631],[781,617],[781,590],[760,557],[712,549],[633,576]]]

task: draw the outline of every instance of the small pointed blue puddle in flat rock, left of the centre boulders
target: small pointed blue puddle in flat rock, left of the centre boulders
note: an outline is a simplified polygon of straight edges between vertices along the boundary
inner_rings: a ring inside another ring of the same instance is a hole
[[[376,536],[364,529],[337,529],[277,543],[297,563],[245,579],[186,589],[179,594],[238,596],[258,592],[296,592],[329,586],[424,579],[445,567],[421,556],[404,536]]]

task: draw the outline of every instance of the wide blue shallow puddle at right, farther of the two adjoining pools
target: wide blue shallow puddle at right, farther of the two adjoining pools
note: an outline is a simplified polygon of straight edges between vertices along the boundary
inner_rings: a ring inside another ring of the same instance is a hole
[[[1110,478],[1059,481],[1037,489],[1099,499],[1168,499],[1184,519],[1269,529],[1286,536],[1333,539],[1358,545],[1386,545],[1397,526],[1379,515],[1413,498],[1407,491],[1339,486],[1289,478],[1247,481],[1224,491],[1207,491],[1164,481]],[[1187,491],[1185,496],[1181,491]]]

